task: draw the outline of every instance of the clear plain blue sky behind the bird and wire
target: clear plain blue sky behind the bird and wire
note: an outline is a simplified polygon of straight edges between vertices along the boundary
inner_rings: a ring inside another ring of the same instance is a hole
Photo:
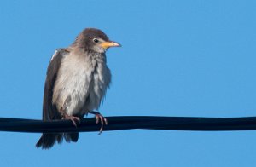
[[[85,27],[109,49],[104,116],[256,115],[255,1],[1,1],[0,117],[41,119],[55,49]],[[0,166],[255,166],[256,131],[80,133],[45,151],[40,134],[0,132]]]

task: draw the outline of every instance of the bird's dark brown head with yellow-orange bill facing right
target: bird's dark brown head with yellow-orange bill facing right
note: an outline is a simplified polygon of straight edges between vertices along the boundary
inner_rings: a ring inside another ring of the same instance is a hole
[[[97,53],[105,53],[110,47],[119,47],[119,43],[110,41],[108,36],[99,29],[86,28],[79,34],[73,45]]]

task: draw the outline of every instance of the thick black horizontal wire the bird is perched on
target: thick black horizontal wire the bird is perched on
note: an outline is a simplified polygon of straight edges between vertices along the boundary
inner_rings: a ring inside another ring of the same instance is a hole
[[[108,125],[103,130],[256,130],[256,117],[245,118],[191,118],[191,117],[153,117],[124,116],[106,117]],[[51,133],[51,132],[90,132],[99,131],[95,118],[84,118],[78,127],[71,121],[41,121],[22,118],[0,118],[0,131]]]

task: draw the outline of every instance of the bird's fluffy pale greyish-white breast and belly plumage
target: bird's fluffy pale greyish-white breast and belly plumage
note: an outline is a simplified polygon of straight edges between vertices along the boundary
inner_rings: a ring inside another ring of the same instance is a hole
[[[104,58],[99,55],[63,58],[53,98],[59,110],[73,115],[98,109],[111,80]],[[88,97],[90,101],[86,102]]]

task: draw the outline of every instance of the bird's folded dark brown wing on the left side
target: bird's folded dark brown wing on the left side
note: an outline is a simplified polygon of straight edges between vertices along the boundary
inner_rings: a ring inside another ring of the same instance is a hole
[[[67,49],[56,49],[49,62],[47,76],[44,83],[43,120],[61,118],[57,108],[52,104],[52,97],[55,80],[61,66],[61,60],[63,56],[67,54],[67,52]]]

